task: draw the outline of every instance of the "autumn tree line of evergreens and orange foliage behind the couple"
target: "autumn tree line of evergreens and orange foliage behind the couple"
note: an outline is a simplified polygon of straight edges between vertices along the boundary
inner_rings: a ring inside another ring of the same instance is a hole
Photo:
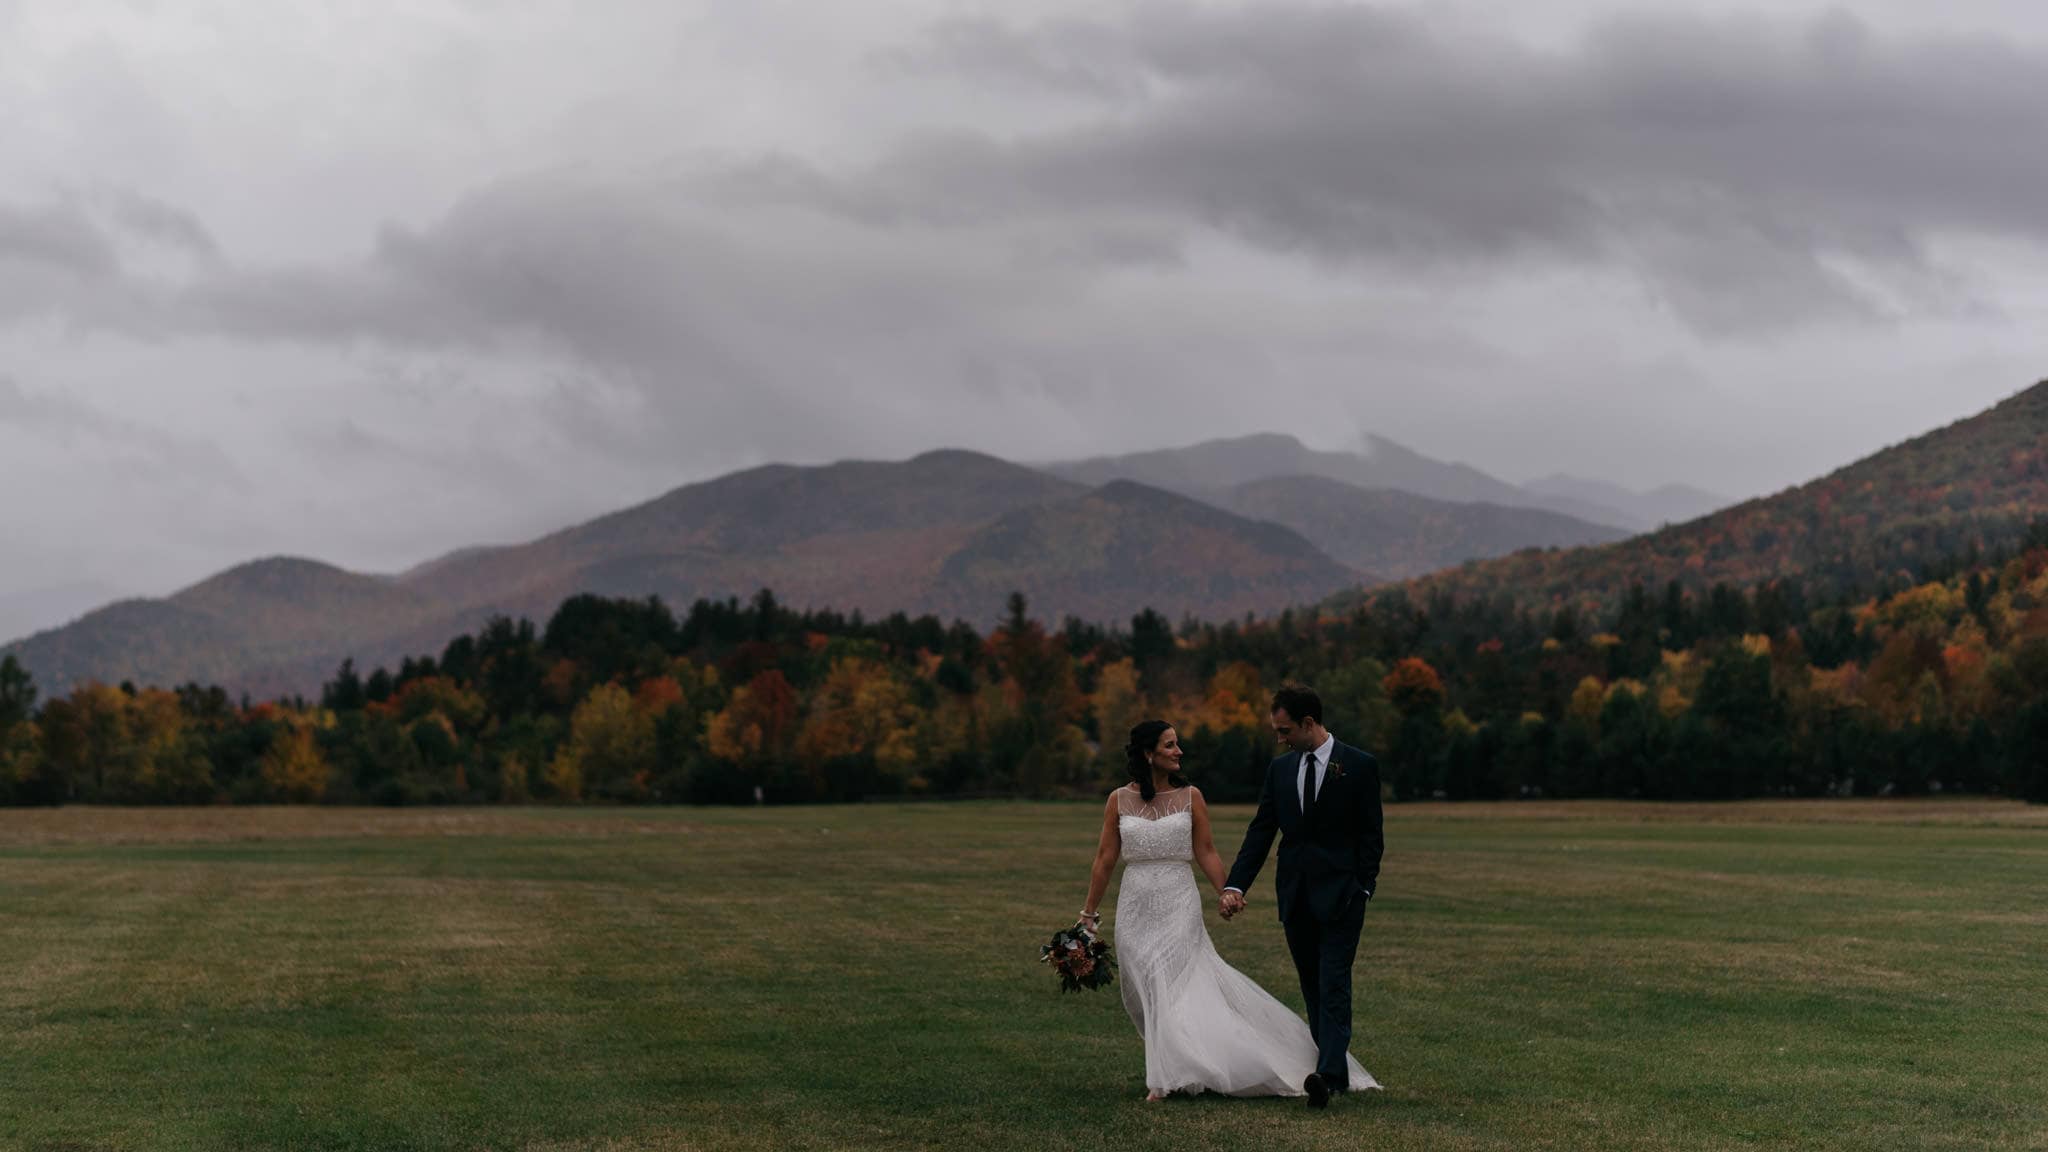
[[[573,596],[319,699],[0,660],[0,804],[770,804],[1069,795],[1174,722],[1214,799],[1315,685],[1391,799],[2005,793],[2048,801],[2048,531],[1862,594],[1628,588],[1612,611],[1384,590],[1343,611],[1049,629]]]

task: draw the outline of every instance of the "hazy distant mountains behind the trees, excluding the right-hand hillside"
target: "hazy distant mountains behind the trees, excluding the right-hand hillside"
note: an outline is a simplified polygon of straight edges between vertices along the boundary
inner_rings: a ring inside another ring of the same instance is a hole
[[[1530,506],[1526,492],[1468,465],[1391,441],[1370,449],[1317,453],[1262,435],[1047,467],[967,451],[766,465],[389,576],[256,560],[8,650],[51,693],[82,681],[309,693],[342,658],[375,666],[438,652],[492,615],[547,619],[575,592],[686,607],[774,588],[795,607],[985,625],[1022,590],[1049,621],[1124,621],[1147,607],[1219,619],[1628,535]]]

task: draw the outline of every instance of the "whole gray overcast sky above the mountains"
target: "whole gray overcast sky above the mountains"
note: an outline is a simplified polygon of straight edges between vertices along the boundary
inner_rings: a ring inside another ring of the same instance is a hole
[[[2048,377],[2048,10],[1731,12],[0,0],[0,592],[948,445],[1749,496]]]

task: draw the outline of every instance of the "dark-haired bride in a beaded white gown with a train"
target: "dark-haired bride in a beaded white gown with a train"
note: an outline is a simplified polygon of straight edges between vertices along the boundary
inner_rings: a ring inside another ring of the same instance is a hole
[[[1124,746],[1130,783],[1112,791],[1102,812],[1081,918],[1090,929],[1102,922],[1096,908],[1120,855],[1116,965],[1124,1009],[1145,1039],[1147,1101],[1202,1091],[1298,1097],[1315,1072],[1315,1037],[1208,943],[1202,892],[1188,861],[1221,896],[1223,857],[1208,834],[1202,791],[1180,777],[1180,754],[1167,722],[1147,719],[1130,730]],[[1358,1060],[1346,1060],[1354,1088],[1378,1086]]]

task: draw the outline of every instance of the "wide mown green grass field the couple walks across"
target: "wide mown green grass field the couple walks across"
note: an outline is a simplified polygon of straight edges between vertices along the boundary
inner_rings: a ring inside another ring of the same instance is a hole
[[[0,1148],[2048,1150],[2048,810],[1386,828],[1311,1113],[1055,992],[1092,808],[0,812]]]

